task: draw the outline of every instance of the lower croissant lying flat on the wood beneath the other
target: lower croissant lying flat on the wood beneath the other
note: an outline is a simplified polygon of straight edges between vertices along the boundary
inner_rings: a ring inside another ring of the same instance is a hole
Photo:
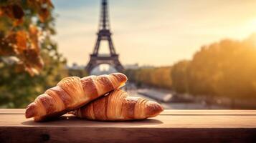
[[[109,95],[86,104],[73,114],[80,118],[102,121],[125,121],[156,117],[163,107],[140,97],[130,97],[127,92],[116,89]]]

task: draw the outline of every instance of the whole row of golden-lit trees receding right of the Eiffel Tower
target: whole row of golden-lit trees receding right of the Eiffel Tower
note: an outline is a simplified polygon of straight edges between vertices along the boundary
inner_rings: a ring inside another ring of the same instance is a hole
[[[191,61],[171,67],[129,69],[131,82],[174,89],[194,96],[252,99],[256,95],[256,34],[202,46]]]

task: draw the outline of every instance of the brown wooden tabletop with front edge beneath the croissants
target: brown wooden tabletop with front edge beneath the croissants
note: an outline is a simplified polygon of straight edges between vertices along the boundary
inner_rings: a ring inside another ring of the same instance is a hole
[[[256,142],[256,110],[165,110],[133,122],[66,114],[35,123],[24,109],[0,109],[0,142]]]

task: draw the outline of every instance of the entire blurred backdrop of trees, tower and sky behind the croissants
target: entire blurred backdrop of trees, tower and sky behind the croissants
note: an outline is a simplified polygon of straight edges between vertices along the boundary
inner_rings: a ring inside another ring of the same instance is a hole
[[[68,76],[128,76],[165,109],[256,109],[256,0],[1,0],[0,108]]]

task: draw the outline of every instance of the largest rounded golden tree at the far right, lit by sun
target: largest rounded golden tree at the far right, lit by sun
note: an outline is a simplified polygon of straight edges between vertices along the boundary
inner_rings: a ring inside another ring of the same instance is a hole
[[[255,35],[244,41],[227,39],[202,47],[187,71],[191,94],[255,97]]]

